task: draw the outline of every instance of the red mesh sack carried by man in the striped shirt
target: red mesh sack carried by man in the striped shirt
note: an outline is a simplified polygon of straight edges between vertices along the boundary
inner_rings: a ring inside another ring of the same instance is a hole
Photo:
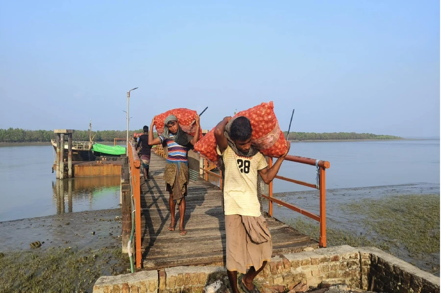
[[[158,135],[162,135],[164,133],[164,120],[169,115],[175,115],[178,119],[179,125],[182,130],[188,133],[189,135],[195,136],[196,134],[196,123],[193,123],[192,126],[190,124],[195,120],[197,112],[186,109],[186,108],[178,108],[169,110],[162,114],[155,116],[155,128]],[[199,138],[202,137],[202,129],[199,128]]]

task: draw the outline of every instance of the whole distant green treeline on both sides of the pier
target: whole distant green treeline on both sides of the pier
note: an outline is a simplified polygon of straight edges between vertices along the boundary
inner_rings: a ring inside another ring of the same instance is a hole
[[[131,130],[133,133],[142,133],[142,129]],[[284,132],[285,137],[287,132]],[[94,141],[113,141],[114,138],[125,138],[126,132],[119,130],[98,130],[92,132]],[[50,142],[55,138],[52,130],[24,130],[21,128],[0,129],[1,142]],[[393,135],[374,135],[371,133],[355,132],[334,132],[334,133],[314,133],[314,132],[290,132],[290,140],[350,140],[350,139],[400,139]],[[88,130],[75,130],[73,140],[89,141]]]

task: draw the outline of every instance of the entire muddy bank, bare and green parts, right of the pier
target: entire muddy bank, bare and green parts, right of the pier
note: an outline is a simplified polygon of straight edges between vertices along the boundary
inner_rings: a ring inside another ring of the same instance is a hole
[[[319,214],[319,192],[316,190],[273,195],[282,201]],[[265,206],[268,206],[267,204]],[[440,184],[411,183],[328,189],[328,246],[375,246],[421,270],[439,276],[440,211],[436,208],[433,210],[434,206],[440,206]],[[298,231],[315,239],[318,237],[317,222],[276,204],[273,206],[273,213],[275,218]],[[436,231],[438,233],[435,233]],[[438,242],[435,245],[433,241]],[[411,249],[407,249],[405,244]],[[429,244],[430,249],[427,248]]]

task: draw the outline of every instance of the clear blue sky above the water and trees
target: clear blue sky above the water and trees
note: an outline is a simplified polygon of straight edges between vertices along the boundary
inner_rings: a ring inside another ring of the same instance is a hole
[[[282,129],[440,135],[440,2],[2,1],[0,128],[211,129],[274,101]]]

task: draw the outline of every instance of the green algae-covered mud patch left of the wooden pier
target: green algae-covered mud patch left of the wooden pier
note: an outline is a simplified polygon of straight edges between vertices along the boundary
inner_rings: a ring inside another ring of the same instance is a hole
[[[120,247],[9,251],[0,258],[0,293],[92,292],[99,276],[126,272],[126,258]]]

